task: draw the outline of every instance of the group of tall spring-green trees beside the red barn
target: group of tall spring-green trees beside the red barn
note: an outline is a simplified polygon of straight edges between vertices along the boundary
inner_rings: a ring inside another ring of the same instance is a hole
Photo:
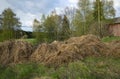
[[[100,37],[108,35],[107,24],[113,22],[115,9],[113,0],[79,0],[78,9],[73,18],[74,36],[95,34]]]

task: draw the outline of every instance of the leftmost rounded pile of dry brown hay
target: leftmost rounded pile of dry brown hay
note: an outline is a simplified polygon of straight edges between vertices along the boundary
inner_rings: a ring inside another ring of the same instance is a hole
[[[28,60],[32,45],[24,41],[6,41],[0,44],[0,64],[8,65]]]

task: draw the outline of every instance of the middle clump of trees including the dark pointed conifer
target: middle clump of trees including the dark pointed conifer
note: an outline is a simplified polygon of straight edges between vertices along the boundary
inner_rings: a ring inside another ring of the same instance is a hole
[[[66,15],[60,16],[52,13],[45,17],[42,16],[42,22],[34,20],[33,34],[40,42],[51,42],[53,40],[64,40],[70,37],[71,30],[69,20]]]

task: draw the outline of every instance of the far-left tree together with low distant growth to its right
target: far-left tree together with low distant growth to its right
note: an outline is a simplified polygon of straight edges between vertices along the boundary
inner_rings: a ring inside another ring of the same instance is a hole
[[[20,19],[7,8],[0,14],[0,42],[11,39],[33,38],[32,32],[21,29]]]

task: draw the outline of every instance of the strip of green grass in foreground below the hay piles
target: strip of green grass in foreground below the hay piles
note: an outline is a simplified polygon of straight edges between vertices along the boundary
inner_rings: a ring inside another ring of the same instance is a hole
[[[119,79],[120,59],[89,57],[61,66],[48,68],[42,64],[24,63],[14,67],[0,67],[0,79]]]

